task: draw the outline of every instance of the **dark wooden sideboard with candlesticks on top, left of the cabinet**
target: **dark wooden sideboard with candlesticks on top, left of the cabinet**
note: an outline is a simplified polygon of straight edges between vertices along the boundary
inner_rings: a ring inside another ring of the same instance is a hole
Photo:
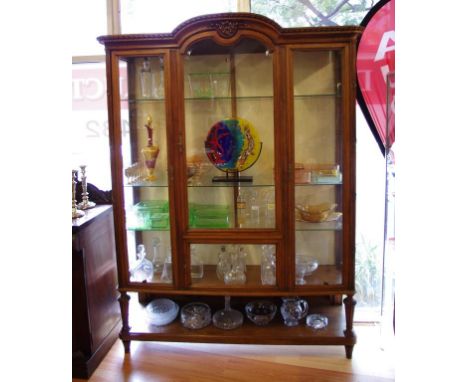
[[[72,373],[89,378],[121,329],[111,205],[72,222]]]

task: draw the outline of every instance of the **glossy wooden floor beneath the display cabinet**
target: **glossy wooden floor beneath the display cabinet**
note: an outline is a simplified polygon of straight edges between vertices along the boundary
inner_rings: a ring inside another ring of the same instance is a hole
[[[124,355],[118,340],[89,382],[390,382],[394,381],[392,344],[382,348],[380,329],[355,325],[353,359],[344,346],[264,346],[131,343]],[[73,382],[85,381],[73,379]]]

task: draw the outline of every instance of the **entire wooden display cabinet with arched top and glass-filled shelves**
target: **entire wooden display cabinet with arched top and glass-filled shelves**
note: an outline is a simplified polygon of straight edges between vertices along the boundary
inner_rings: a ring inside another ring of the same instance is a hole
[[[132,340],[327,344],[351,358],[360,33],[227,13],[98,38],[127,352]],[[285,325],[295,296],[328,325]],[[162,297],[244,315],[266,299],[277,314],[233,330],[149,324],[145,304]]]

